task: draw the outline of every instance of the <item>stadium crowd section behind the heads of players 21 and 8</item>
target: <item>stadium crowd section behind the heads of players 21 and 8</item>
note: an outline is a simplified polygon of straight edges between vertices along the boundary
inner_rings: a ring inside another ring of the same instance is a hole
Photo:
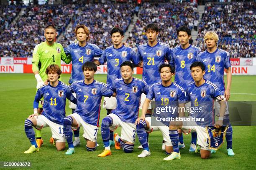
[[[139,20],[134,24],[133,30],[129,32],[128,44],[136,50],[138,45],[146,43],[147,37],[143,28],[148,23],[156,23],[161,28],[159,41],[175,47],[179,43],[176,29],[181,25],[189,25],[193,29],[194,23],[197,25],[198,19],[197,7],[193,3],[144,3],[141,6]]]

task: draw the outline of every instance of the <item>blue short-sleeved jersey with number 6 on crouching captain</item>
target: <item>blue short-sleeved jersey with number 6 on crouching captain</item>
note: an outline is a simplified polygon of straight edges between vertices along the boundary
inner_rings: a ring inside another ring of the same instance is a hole
[[[196,120],[197,125],[212,126],[215,123],[213,105],[216,97],[222,95],[218,87],[205,80],[205,83],[197,87],[195,82],[187,86],[187,98],[191,101],[191,108],[198,107],[196,112],[190,112],[192,117],[204,118],[204,120]],[[200,111],[201,110],[201,111]]]

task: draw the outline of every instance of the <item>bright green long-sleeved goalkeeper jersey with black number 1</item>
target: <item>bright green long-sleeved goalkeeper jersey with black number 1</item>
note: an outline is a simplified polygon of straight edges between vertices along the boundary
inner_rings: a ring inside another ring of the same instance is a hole
[[[61,67],[61,60],[67,64],[71,62],[71,57],[66,56],[60,43],[54,42],[54,45],[49,46],[46,42],[41,42],[33,51],[32,70],[33,72],[39,71],[39,75],[45,81],[47,79],[46,68],[51,64]]]

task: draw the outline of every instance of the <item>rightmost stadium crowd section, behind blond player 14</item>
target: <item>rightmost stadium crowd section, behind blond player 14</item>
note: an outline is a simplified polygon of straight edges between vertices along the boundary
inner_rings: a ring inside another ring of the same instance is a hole
[[[231,57],[256,57],[256,3],[232,2],[230,5],[207,3],[198,27],[196,45],[206,49],[203,36],[209,30],[219,35],[218,47]]]

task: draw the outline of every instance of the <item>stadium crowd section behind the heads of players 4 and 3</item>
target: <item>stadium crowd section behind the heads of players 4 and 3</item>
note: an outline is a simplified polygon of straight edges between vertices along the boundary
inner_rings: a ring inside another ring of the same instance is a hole
[[[133,19],[133,8],[131,4],[87,4],[76,13],[73,26],[65,31],[61,44],[66,47],[74,42],[74,28],[77,24],[84,24],[90,30],[90,43],[105,49],[112,44],[109,35],[111,28],[127,30]]]

